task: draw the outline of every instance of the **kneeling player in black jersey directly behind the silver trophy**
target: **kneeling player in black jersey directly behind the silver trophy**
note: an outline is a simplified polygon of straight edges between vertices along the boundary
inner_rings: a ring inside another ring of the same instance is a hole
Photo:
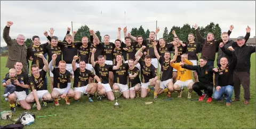
[[[116,60],[122,62],[122,55],[117,55]],[[122,63],[117,70],[113,70],[115,76],[113,90],[120,90],[125,99],[130,98],[129,88],[127,85],[128,68],[129,66],[127,63]]]

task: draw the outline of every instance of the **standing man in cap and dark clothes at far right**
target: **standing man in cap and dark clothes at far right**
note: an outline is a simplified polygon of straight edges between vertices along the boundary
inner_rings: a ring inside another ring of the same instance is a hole
[[[239,36],[236,42],[232,43],[237,55],[237,63],[233,74],[235,99],[233,101],[240,101],[241,84],[244,88],[244,104],[248,105],[250,101],[250,69],[251,69],[251,55],[255,53],[255,46],[245,45],[245,38]],[[227,53],[226,49],[222,50]]]

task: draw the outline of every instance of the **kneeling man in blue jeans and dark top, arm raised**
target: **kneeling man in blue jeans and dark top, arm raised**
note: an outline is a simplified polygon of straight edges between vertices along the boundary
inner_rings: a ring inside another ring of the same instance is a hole
[[[223,47],[223,42],[220,43],[220,48],[223,49],[223,51],[226,51],[225,47]],[[231,46],[228,47],[228,49],[231,51],[232,54],[232,61],[231,63],[228,62],[228,59],[226,57],[222,57],[220,59],[221,66],[218,67],[218,73],[215,74],[214,79],[214,87],[216,88],[213,98],[215,100],[222,100],[223,94],[226,94],[226,106],[231,105],[231,97],[233,94],[233,73],[234,69],[237,63],[237,55],[235,53],[235,49]]]

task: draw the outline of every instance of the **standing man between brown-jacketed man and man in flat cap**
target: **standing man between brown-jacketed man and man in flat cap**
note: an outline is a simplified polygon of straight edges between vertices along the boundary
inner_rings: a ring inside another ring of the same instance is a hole
[[[229,31],[232,31],[234,29],[234,26],[233,25],[231,25],[230,27],[229,27]],[[247,40],[249,39],[249,37],[250,37],[250,31],[251,31],[251,28],[250,27],[247,27],[246,28],[246,35],[245,35],[245,37],[244,37],[244,39],[245,39],[245,44],[246,44],[246,42],[247,42]],[[227,49],[228,47],[230,47],[232,44],[230,44],[231,42],[234,42],[234,41],[232,41],[232,40],[229,40],[229,36],[228,36],[228,33],[227,32],[223,32],[222,34],[221,34],[221,39],[222,39],[222,41],[223,41],[223,44],[224,44],[224,47],[225,47],[225,49]],[[222,58],[222,57],[226,57],[227,59],[228,59],[228,63],[230,64],[231,63],[231,60],[232,60],[232,56],[230,56],[231,55],[231,51],[227,51],[227,53],[229,53],[229,55],[226,55],[225,53],[223,53],[223,51],[221,50],[221,48],[219,47],[219,49],[218,49],[218,56],[217,56],[217,65],[220,67],[221,65],[220,65],[220,59]]]

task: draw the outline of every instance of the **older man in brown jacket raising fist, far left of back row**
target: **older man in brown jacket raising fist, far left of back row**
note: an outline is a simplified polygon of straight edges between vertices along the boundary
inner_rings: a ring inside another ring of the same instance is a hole
[[[3,32],[4,41],[8,47],[8,58],[5,67],[9,69],[14,68],[16,62],[21,62],[23,66],[22,71],[28,73],[27,47],[24,44],[25,36],[19,34],[16,40],[12,40],[9,36],[12,24],[12,21],[7,21]]]

